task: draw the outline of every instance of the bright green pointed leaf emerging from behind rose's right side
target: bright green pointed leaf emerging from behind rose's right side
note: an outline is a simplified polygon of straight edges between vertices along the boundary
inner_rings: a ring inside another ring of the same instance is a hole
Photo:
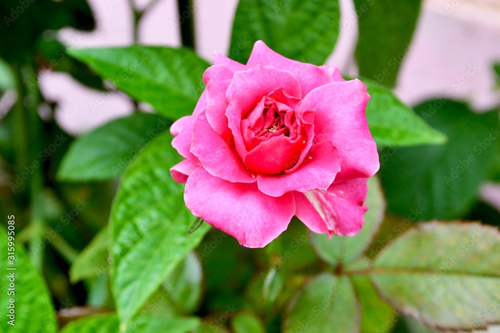
[[[427,125],[388,88],[366,78],[361,80],[371,96],[366,106],[366,119],[379,147],[446,142],[445,135]]]

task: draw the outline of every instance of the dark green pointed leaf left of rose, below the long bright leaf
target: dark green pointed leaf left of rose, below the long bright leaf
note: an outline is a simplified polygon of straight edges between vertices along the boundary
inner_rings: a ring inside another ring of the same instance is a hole
[[[74,140],[57,177],[63,181],[117,178],[142,147],[170,122],[156,114],[115,119]]]

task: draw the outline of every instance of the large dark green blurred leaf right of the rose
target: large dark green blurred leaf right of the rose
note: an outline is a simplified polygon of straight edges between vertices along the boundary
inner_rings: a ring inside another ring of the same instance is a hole
[[[461,217],[489,178],[500,147],[498,112],[476,114],[448,100],[426,102],[415,111],[449,140],[441,146],[391,148],[380,153],[379,174],[387,207],[423,221]]]

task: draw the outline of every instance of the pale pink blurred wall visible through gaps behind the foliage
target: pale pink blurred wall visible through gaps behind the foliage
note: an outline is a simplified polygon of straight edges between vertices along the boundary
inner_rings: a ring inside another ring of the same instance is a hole
[[[89,0],[97,28],[91,33],[71,29],[60,32],[60,38],[71,47],[127,45],[132,42],[131,12],[126,0]],[[108,3],[116,3],[109,7]],[[207,60],[212,52],[225,53],[236,0],[194,0],[198,53]],[[139,7],[147,0],[137,0]],[[161,0],[141,21],[139,39],[145,44],[179,46],[176,1]],[[352,53],[357,36],[353,5],[341,0],[341,35],[328,58],[347,74],[356,74]],[[427,0],[418,21],[411,51],[402,64],[396,94],[414,104],[449,92],[481,111],[500,103],[500,91],[494,91],[491,64],[500,60],[500,1],[498,0]],[[478,68],[464,84],[456,79],[469,66]],[[97,93],[75,82],[63,73],[46,73],[40,77],[44,96],[57,101],[57,121],[73,134],[86,132],[112,118],[132,111],[130,100],[120,93]],[[91,105],[98,104],[92,110]],[[483,195],[500,203],[500,191],[493,186]],[[496,196],[496,197],[495,197]],[[500,204],[498,204],[500,207]],[[500,332],[500,329],[489,332]]]

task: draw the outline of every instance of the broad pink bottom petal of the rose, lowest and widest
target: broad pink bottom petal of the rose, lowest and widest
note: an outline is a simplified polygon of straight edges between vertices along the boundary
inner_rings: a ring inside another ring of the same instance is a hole
[[[269,197],[256,184],[230,183],[203,168],[185,186],[187,208],[249,248],[264,247],[286,230],[295,212],[293,194]]]

